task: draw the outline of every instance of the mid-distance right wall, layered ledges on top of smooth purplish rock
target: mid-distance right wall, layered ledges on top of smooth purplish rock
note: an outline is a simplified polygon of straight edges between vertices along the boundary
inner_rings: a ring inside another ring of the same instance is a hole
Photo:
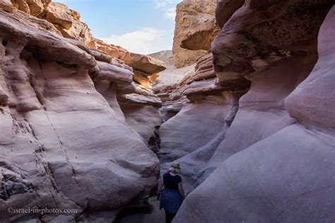
[[[238,100],[248,89],[249,80],[216,85],[213,55],[199,58],[194,71],[180,83],[155,88],[163,100],[161,113],[165,123],[160,127],[162,171],[169,162],[179,159],[187,192],[197,185],[201,167],[211,159],[233,122]]]

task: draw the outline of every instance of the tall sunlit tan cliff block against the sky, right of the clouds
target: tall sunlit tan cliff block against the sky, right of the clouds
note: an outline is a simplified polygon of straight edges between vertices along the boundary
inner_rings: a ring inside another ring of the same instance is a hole
[[[215,23],[216,0],[184,0],[177,5],[173,55],[177,67],[194,64],[208,54],[218,32]]]

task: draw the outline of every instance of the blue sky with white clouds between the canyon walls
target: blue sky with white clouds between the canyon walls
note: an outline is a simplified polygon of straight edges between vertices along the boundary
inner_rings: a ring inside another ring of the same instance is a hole
[[[181,0],[54,0],[81,14],[95,38],[130,52],[172,49],[175,6]]]

